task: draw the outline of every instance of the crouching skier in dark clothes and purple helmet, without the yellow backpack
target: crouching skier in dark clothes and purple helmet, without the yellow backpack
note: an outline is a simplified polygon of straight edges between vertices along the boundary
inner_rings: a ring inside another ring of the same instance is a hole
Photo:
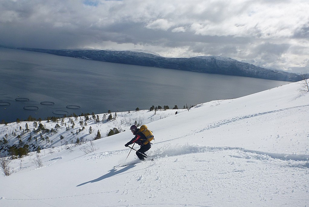
[[[142,154],[146,155],[145,152],[147,152],[151,148],[150,142],[148,142],[147,144],[143,144],[143,142],[146,140],[146,137],[142,132],[139,131],[136,125],[132,125],[130,127],[130,130],[135,135],[135,137],[131,141],[126,143],[125,147],[128,147],[130,144],[133,143],[137,143],[138,145],[140,145],[141,148],[136,152],[136,155],[140,160],[144,160],[145,156],[143,156]],[[141,139],[143,139],[143,141]]]

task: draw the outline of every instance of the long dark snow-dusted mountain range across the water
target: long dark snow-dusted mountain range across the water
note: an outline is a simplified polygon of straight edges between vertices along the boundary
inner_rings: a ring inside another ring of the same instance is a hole
[[[192,58],[166,58],[141,51],[112,50],[46,50],[33,48],[15,48],[26,51],[43,52],[74,58],[91,59],[112,63],[142,65],[157,68],[169,68],[202,73],[263,78],[277,81],[296,82],[302,80],[296,73],[260,68],[252,64],[239,62],[231,58],[218,56],[198,56]]]

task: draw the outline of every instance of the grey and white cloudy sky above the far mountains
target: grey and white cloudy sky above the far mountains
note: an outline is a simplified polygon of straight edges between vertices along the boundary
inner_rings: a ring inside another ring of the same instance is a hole
[[[309,73],[308,0],[0,0],[0,45],[218,55]]]

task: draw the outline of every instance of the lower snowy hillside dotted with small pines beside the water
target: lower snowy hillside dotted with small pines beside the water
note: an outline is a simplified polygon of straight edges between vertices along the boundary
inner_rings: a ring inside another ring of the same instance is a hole
[[[4,145],[3,140],[0,141],[0,152],[2,155],[6,155],[8,147],[12,145],[28,144],[32,152],[36,151],[38,147],[44,149],[75,144],[77,139],[80,142],[86,142],[93,140],[98,130],[101,137],[104,138],[114,128],[122,132],[128,130],[133,124],[147,124],[183,110],[111,112],[94,116],[55,118],[53,121],[22,121],[7,124],[7,126],[2,124],[0,125],[0,137],[2,139],[4,137],[7,143]],[[112,117],[110,121],[108,121],[108,116]]]

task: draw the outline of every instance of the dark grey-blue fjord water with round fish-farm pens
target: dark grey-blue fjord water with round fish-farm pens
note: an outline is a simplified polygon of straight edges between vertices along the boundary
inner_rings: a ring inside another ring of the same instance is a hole
[[[0,121],[183,108],[290,82],[116,64],[0,48]],[[214,103],[215,105],[215,103]]]

